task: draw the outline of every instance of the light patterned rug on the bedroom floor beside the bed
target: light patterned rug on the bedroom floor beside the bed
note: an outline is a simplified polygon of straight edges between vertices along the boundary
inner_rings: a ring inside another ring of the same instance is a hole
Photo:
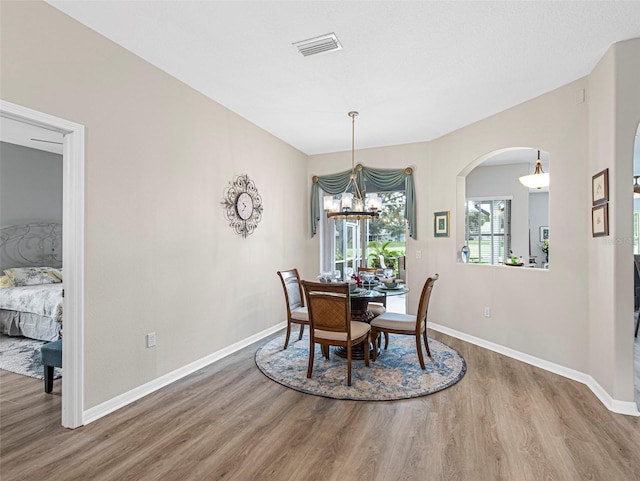
[[[26,337],[0,335],[0,369],[23,376],[44,379],[44,366],[40,360],[40,347],[46,341],[36,341]],[[62,376],[62,370],[54,368],[53,378]]]

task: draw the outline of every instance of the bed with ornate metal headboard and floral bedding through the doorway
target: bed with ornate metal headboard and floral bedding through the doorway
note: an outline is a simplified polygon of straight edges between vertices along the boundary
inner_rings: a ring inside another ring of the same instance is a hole
[[[55,341],[62,331],[62,226],[0,228],[0,333]]]

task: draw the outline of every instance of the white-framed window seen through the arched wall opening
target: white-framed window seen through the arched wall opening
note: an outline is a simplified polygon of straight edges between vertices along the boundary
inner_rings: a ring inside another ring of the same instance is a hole
[[[502,264],[511,251],[511,200],[467,199],[465,214],[469,262]]]

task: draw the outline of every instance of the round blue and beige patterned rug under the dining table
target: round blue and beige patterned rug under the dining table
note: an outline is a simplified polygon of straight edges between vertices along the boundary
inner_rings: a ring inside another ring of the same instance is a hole
[[[296,391],[333,399],[356,401],[390,401],[426,396],[457,383],[466,372],[466,363],[455,349],[429,339],[433,361],[425,354],[426,369],[420,368],[415,338],[391,334],[388,350],[382,350],[376,362],[366,367],[353,360],[351,386],[347,386],[347,360],[331,348],[326,360],[316,345],[313,373],[307,379],[309,338],[289,342],[284,335],[268,341],[258,349],[256,365],[269,379]]]

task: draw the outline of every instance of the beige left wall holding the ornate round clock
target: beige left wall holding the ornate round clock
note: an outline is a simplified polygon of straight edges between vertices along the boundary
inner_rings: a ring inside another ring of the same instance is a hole
[[[84,408],[282,322],[306,156],[44,3],[1,8],[0,97],[86,126]],[[243,173],[247,239],[220,205]]]

